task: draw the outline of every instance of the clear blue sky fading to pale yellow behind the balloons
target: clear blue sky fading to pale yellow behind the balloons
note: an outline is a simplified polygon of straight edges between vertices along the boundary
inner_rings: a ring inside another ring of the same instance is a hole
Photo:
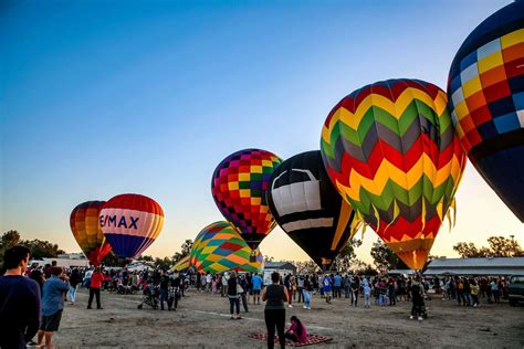
[[[446,87],[462,41],[509,2],[3,1],[0,229],[77,251],[77,203],[138,192],[166,213],[146,253],[170,255],[222,219],[210,180],[227,155],[318,149],[329,109],[378,80]],[[433,253],[522,231],[471,166],[458,204]],[[305,258],[280,229],[261,248]]]

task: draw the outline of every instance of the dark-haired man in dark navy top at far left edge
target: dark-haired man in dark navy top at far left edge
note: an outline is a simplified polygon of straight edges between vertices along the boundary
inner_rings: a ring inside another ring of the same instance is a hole
[[[3,254],[0,276],[0,348],[25,348],[36,335],[40,325],[40,287],[24,277],[29,263],[29,248],[14,246]]]

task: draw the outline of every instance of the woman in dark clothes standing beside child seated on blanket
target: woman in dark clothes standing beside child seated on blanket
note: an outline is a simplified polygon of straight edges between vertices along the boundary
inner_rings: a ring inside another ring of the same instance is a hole
[[[262,293],[262,300],[265,302],[264,320],[268,328],[268,348],[274,348],[275,327],[279,332],[281,348],[285,347],[285,307],[284,302],[289,302],[287,288],[280,284],[280,274],[271,274],[272,284],[265,287]]]

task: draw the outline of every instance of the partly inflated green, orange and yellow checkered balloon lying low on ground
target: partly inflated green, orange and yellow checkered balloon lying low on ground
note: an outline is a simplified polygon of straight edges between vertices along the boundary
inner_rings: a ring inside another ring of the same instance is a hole
[[[200,273],[222,273],[226,271],[261,272],[263,256],[254,251],[255,261],[251,262],[252,250],[239,233],[224,221],[209,224],[197,235],[191,248],[190,264]]]

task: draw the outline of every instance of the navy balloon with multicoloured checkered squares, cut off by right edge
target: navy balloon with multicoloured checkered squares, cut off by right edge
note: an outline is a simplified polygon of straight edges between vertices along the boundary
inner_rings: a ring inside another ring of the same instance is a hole
[[[468,157],[524,222],[524,2],[484,20],[451,64],[451,118]]]

